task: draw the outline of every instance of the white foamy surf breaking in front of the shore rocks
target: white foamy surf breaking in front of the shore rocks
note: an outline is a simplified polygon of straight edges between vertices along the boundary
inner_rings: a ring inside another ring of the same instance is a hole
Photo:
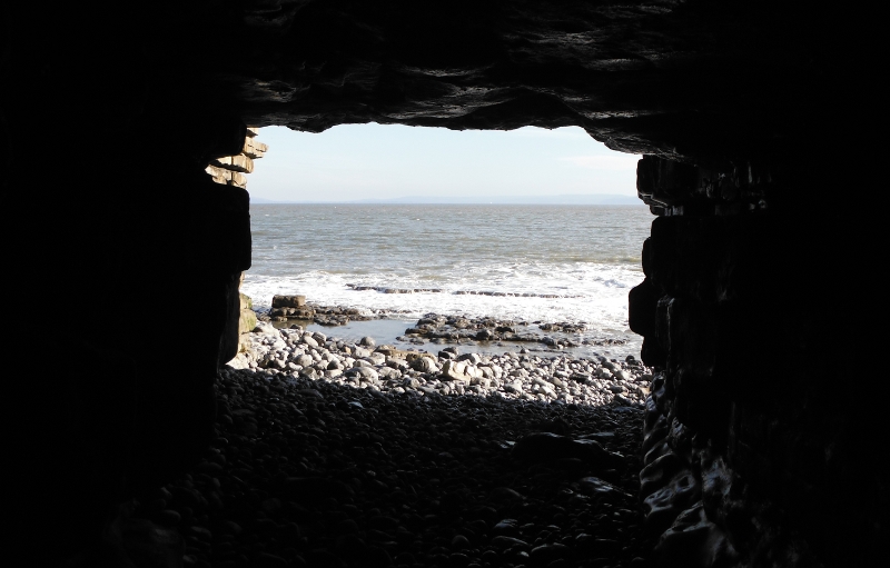
[[[364,310],[491,316],[527,321],[584,321],[591,332],[625,337],[627,292],[643,280],[640,269],[602,263],[454,266],[447,273],[390,270],[388,273],[332,273],[312,270],[297,276],[247,272],[243,291],[258,308],[276,293],[301,293],[315,303]],[[347,285],[373,287],[355,290]],[[383,293],[379,289],[436,288],[441,292]],[[476,292],[476,293],[455,293]],[[487,296],[503,292],[512,296]],[[534,295],[534,296],[522,296]],[[548,298],[544,296],[557,296]],[[635,337],[635,336],[634,336]]]

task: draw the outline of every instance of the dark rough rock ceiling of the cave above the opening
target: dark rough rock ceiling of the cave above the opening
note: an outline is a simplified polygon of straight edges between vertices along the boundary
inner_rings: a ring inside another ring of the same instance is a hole
[[[140,104],[216,106],[251,126],[310,132],[370,121],[458,130],[580,126],[615,150],[725,165],[843,130],[837,101],[856,74],[856,58],[839,48],[844,23],[838,13],[797,6],[100,2],[22,17],[27,23],[13,34],[27,50],[16,39],[10,44],[13,67],[37,81],[47,66],[78,73],[81,83],[95,76],[91,88],[107,91],[105,114],[109,104],[125,114]],[[53,40],[42,44],[41,37]],[[28,59],[37,70],[21,62]],[[119,99],[132,84],[148,87],[127,107]]]

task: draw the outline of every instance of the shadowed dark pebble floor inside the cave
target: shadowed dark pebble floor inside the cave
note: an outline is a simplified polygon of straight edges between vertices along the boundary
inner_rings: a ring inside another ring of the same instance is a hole
[[[388,396],[249,370],[222,371],[217,392],[205,459],[134,511],[184,537],[185,566],[645,566],[640,409]],[[617,459],[517,459],[514,445],[541,431]],[[589,476],[611,485],[591,491]]]

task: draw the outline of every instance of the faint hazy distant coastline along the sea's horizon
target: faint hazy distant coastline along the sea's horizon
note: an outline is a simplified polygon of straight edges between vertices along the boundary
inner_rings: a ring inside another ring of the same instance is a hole
[[[356,199],[349,201],[322,200],[278,200],[250,197],[255,205],[589,205],[589,206],[641,206],[644,203],[634,196],[616,193],[587,193],[560,196],[409,196],[390,199]]]

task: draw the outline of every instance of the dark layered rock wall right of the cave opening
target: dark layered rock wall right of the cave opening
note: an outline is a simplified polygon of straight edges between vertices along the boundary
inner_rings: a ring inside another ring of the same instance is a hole
[[[867,218],[800,207],[814,166],[783,177],[640,162],[660,217],[630,318],[661,369],[640,475],[661,564],[878,561],[888,484],[870,448],[887,387],[867,370],[873,338],[850,278],[863,276],[850,248],[867,242]]]

